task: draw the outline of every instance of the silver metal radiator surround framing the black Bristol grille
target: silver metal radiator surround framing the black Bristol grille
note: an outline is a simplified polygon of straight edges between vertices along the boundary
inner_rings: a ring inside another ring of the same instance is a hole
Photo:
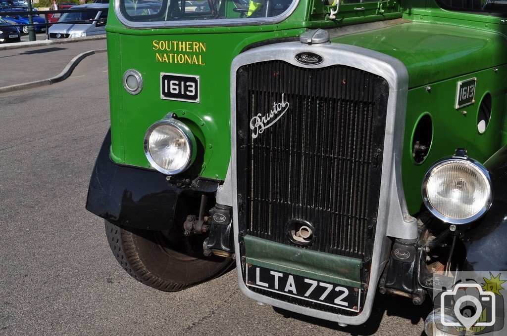
[[[324,61],[318,65],[304,65],[296,61],[299,53],[311,52],[323,56]],[[241,291],[249,298],[266,304],[291,310],[325,320],[358,325],[370,317],[377,283],[388,260],[387,236],[406,239],[417,238],[416,220],[408,215],[401,176],[401,158],[403,135],[405,129],[405,111],[408,92],[408,71],[399,60],[372,50],[342,45],[323,44],[308,46],[299,42],[289,42],[251,49],[238,55],[231,66],[231,198],[233,201],[234,244],[239,247],[238,234],[238,199],[236,172],[236,71],[239,67],[271,60],[282,60],[304,68],[327,67],[342,64],[363,69],[382,76],[389,83],[387,102],[387,119],[384,138],[384,153],[380,185],[377,230],[372,255],[370,283],[363,312],[358,316],[343,316],[311,308],[289,304],[269,298],[248,289],[241,274],[240,254],[236,253],[238,283]]]

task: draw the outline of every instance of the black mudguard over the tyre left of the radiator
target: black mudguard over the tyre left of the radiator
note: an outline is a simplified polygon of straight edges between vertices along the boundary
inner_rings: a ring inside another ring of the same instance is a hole
[[[124,227],[168,230],[179,195],[185,191],[210,193],[218,181],[196,179],[188,186],[167,181],[157,171],[114,163],[109,156],[111,130],[98,154],[88,187],[86,209]]]

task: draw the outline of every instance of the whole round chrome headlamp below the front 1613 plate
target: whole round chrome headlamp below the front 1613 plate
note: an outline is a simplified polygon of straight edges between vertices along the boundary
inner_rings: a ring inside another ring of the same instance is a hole
[[[185,123],[169,116],[155,122],[146,131],[144,154],[160,173],[178,174],[194,162],[195,137]]]

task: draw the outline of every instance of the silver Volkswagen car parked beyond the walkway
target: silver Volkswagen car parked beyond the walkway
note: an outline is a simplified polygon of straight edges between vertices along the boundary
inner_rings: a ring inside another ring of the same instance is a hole
[[[64,13],[57,24],[49,28],[50,38],[72,38],[105,34],[107,4],[87,4],[71,8],[76,12]],[[100,9],[97,13],[81,12],[80,9]]]

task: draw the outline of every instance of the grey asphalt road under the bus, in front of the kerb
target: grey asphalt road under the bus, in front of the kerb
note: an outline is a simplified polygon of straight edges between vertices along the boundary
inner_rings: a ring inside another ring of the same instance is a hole
[[[340,327],[260,306],[235,271],[166,293],[118,265],[84,208],[108,128],[106,55],[65,81],[0,95],[0,334],[421,335],[429,311],[377,296],[369,322]]]

